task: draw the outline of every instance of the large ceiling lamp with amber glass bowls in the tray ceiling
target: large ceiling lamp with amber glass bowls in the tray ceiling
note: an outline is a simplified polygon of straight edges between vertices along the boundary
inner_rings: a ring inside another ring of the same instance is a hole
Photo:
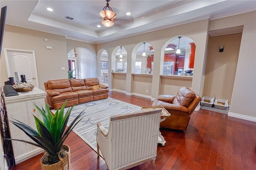
[[[103,21],[101,23],[106,27],[111,27],[112,25],[114,25],[113,19],[116,17],[116,14],[108,5],[108,2],[110,2],[110,0],[106,0],[106,2],[107,6],[105,6],[103,10],[100,12],[100,17],[103,18]]]

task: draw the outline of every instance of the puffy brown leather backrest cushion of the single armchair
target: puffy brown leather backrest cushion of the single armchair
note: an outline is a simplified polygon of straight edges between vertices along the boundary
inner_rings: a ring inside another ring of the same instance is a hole
[[[172,104],[188,107],[195,96],[196,94],[192,90],[187,87],[182,87],[178,91],[176,98],[173,100]]]

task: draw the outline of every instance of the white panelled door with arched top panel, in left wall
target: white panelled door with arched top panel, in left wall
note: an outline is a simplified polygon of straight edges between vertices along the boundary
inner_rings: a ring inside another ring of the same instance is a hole
[[[19,72],[20,75],[25,75],[27,83],[32,83],[34,86],[38,87],[35,52],[4,49],[4,53],[8,77],[15,77],[14,72]]]

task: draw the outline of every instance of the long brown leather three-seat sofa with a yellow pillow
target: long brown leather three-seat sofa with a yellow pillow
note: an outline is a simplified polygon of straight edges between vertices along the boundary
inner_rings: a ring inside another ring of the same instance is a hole
[[[54,109],[108,98],[108,86],[98,78],[59,79],[44,82],[47,103]]]

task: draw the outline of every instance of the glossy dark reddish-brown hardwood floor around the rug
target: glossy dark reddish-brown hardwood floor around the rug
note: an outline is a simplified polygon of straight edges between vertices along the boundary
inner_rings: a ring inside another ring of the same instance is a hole
[[[151,106],[149,99],[109,92],[109,97],[137,106]],[[156,170],[255,170],[256,123],[200,109],[191,115],[186,131],[160,129],[166,145],[158,144]],[[107,170],[105,161],[80,137],[71,133],[70,170]],[[14,170],[40,170],[42,154],[14,167]],[[151,162],[132,170],[148,170]]]

